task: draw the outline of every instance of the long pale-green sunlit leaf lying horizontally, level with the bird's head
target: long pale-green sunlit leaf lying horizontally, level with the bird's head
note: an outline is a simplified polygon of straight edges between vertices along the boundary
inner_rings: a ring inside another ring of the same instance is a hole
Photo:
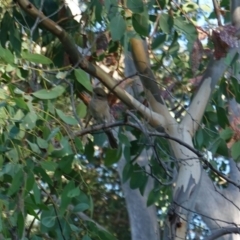
[[[51,88],[50,90],[41,89],[37,92],[32,93],[32,95],[36,98],[47,100],[47,99],[55,99],[61,96],[65,91],[65,88],[62,86],[56,86]]]

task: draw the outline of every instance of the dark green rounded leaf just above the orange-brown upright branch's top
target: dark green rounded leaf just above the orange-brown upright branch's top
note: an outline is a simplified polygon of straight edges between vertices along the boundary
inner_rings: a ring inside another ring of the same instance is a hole
[[[148,14],[147,13],[134,13],[132,16],[132,24],[135,31],[143,36],[148,36],[149,34],[149,24],[148,24]]]

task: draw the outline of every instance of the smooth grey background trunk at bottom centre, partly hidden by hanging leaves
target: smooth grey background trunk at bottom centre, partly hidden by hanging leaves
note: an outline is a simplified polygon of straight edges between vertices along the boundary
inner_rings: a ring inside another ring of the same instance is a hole
[[[125,76],[131,76],[136,73],[134,63],[131,58],[131,54],[125,55]],[[131,91],[137,98],[141,97],[142,85],[137,76],[134,77],[135,81],[132,83]],[[130,133],[128,138],[131,139],[133,136]],[[136,162],[140,166],[143,166],[148,171],[148,160],[152,155],[151,150],[143,150]],[[126,164],[125,158],[122,156],[118,163],[118,172],[120,177],[122,176],[123,168]],[[144,195],[142,196],[139,189],[133,190],[129,186],[129,181],[122,184],[124,192],[128,215],[131,226],[131,239],[132,240],[159,240],[159,224],[157,221],[156,207],[154,205],[147,207],[147,198],[149,192],[153,189],[154,179],[149,177],[147,185],[145,187]]]

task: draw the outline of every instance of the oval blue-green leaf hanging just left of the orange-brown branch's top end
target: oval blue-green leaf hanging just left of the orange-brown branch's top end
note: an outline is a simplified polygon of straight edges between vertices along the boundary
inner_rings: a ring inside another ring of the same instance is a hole
[[[126,31],[126,22],[121,15],[116,15],[110,22],[110,31],[113,41],[119,41],[122,39]]]

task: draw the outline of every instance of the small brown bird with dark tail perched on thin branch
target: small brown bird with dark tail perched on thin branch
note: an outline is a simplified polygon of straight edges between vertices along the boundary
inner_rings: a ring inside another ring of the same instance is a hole
[[[110,107],[108,105],[107,94],[100,87],[93,89],[93,95],[88,105],[88,111],[97,123],[111,123],[113,121]],[[104,132],[108,137],[110,146],[112,148],[117,148],[117,141],[111,130],[104,130]]]

